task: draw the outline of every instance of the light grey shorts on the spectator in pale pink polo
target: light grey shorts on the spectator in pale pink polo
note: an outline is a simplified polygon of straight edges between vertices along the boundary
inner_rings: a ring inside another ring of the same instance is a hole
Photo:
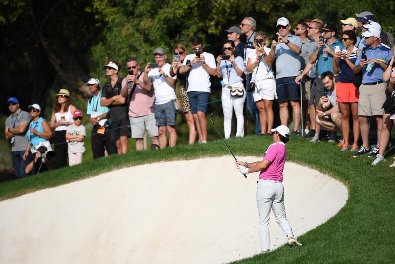
[[[158,127],[155,124],[155,113],[147,114],[140,117],[129,116],[130,130],[132,131],[132,138],[144,138],[145,130],[147,129],[150,138],[157,137]]]

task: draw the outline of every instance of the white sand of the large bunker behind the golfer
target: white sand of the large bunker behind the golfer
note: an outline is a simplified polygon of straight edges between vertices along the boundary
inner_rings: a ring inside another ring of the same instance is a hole
[[[0,263],[204,264],[249,257],[260,251],[257,178],[244,179],[225,156],[124,168],[3,201]],[[348,197],[339,181],[291,162],[284,186],[295,235],[334,216]],[[270,234],[272,249],[285,243],[273,214]]]

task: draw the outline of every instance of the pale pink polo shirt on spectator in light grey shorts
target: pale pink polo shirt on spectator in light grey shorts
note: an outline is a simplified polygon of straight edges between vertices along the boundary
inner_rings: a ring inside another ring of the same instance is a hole
[[[140,72],[137,75],[139,74]],[[141,74],[139,77],[139,81],[143,82],[143,77],[144,74]],[[124,87],[125,85],[126,85],[126,78],[124,78],[122,81],[122,87]],[[130,94],[131,91],[132,90],[129,89],[128,94]],[[136,89],[134,90],[134,93],[132,94],[132,98],[130,100],[129,116],[141,117],[154,113],[154,102],[155,102],[154,89],[152,89],[150,92],[147,92],[139,85],[136,85]]]

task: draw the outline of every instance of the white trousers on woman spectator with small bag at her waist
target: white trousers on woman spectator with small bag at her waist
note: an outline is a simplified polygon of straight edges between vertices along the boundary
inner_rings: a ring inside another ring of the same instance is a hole
[[[225,138],[229,138],[231,136],[231,127],[232,127],[232,114],[233,109],[235,109],[236,114],[236,136],[243,137],[244,136],[244,116],[243,116],[243,108],[246,97],[246,92],[242,82],[238,82],[231,85],[234,88],[242,88],[244,90],[244,96],[242,97],[232,97],[231,91],[226,86],[222,87],[222,111],[224,112],[224,133]]]

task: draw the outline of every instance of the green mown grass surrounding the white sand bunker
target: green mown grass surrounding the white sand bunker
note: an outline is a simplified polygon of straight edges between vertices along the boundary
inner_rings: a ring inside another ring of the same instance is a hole
[[[227,142],[236,156],[262,156],[272,139],[249,136],[232,138]],[[299,137],[291,137],[287,143],[287,151],[289,161],[313,167],[344,182],[349,188],[347,204],[328,222],[300,236],[303,247],[283,246],[269,254],[257,255],[235,263],[394,262],[395,169],[388,167],[393,161],[394,149],[390,151],[392,156],[386,154],[387,162],[377,166],[371,166],[373,160],[367,156],[352,158],[351,152],[340,152],[335,144],[312,144]],[[229,155],[232,160],[225,145],[219,140],[208,144],[182,145],[160,151],[148,150],[110,156],[38,176],[1,183],[0,199],[77,181],[121,167],[217,155]],[[285,181],[287,177],[292,175],[285,175]],[[240,174],[240,182],[243,179]]]

